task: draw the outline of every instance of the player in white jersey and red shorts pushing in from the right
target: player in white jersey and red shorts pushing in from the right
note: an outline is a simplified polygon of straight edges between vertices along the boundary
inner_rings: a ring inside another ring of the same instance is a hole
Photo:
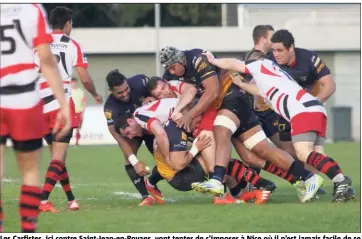
[[[292,142],[298,159],[333,181],[333,202],[344,202],[355,197],[351,187],[352,180],[344,176],[336,161],[318,152],[323,148],[321,146],[326,137],[327,112],[316,97],[305,91],[277,64],[268,59],[245,64],[233,58],[216,59],[211,52],[205,55],[209,62],[217,67],[253,76],[256,85],[241,80],[234,84],[253,95],[263,97],[276,113],[290,122]]]

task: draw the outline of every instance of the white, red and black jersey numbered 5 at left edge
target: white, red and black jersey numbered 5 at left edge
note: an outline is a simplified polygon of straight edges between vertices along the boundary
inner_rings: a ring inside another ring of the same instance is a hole
[[[40,101],[34,48],[53,41],[40,4],[1,4],[1,108],[27,109]]]

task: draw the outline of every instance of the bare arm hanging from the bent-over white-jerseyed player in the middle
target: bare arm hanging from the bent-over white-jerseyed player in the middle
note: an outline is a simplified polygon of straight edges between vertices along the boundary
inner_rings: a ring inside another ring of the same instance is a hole
[[[152,120],[152,119],[150,119]],[[167,133],[162,127],[161,122],[153,119],[150,123],[147,123],[148,130],[155,136],[157,146],[160,149],[166,163],[170,160],[170,143]]]

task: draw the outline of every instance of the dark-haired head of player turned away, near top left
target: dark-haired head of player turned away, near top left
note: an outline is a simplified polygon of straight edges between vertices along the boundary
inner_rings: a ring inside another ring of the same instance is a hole
[[[54,30],[62,30],[66,35],[72,31],[73,11],[67,7],[56,7],[50,11],[49,22]]]

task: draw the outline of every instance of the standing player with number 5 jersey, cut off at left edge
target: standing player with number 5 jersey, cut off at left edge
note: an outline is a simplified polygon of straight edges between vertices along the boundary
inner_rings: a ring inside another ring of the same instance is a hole
[[[43,74],[59,101],[53,133],[70,129],[69,106],[49,43],[53,38],[46,13],[38,4],[1,4],[0,137],[11,138],[22,177],[19,214],[22,232],[37,229],[40,204],[39,161],[43,138],[43,103],[36,89],[38,51]],[[0,201],[0,232],[2,232]]]

